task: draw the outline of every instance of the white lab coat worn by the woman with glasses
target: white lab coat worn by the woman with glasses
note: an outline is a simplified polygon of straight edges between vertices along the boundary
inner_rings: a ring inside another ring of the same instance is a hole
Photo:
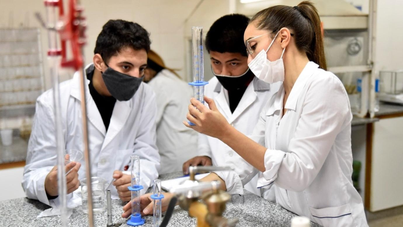
[[[278,204],[325,227],[368,226],[351,181],[352,115],[343,84],[309,62],[281,117],[284,94],[281,86],[251,136],[267,148],[258,187],[275,185]]]

